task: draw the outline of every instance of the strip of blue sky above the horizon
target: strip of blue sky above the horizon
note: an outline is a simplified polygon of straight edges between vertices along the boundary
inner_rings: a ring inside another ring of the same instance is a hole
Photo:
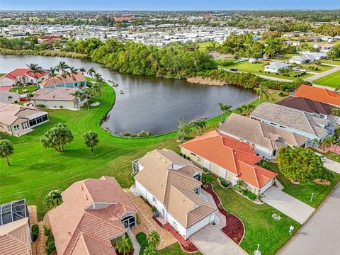
[[[1,11],[340,9],[340,0],[0,0]]]

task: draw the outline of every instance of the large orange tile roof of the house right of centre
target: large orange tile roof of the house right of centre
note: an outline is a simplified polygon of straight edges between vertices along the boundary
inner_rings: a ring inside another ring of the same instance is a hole
[[[221,166],[256,188],[262,188],[277,176],[256,165],[262,158],[256,156],[251,145],[215,130],[185,142],[180,147]]]

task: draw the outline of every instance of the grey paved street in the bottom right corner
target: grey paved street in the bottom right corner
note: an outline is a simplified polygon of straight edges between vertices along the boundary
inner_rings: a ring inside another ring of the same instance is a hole
[[[340,184],[279,255],[340,254]]]

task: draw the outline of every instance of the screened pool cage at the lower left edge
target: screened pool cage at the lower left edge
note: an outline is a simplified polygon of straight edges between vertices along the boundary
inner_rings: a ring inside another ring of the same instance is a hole
[[[0,226],[28,217],[26,199],[0,205]]]

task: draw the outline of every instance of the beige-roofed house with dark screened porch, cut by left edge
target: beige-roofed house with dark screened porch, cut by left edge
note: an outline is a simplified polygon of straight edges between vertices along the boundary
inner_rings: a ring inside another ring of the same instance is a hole
[[[33,128],[48,121],[48,113],[11,103],[0,102],[0,132],[25,135]]]

